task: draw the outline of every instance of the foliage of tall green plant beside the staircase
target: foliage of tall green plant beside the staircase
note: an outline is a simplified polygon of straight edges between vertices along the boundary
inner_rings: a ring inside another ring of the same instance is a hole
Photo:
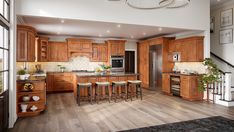
[[[206,90],[207,84],[214,83],[219,80],[219,69],[217,65],[212,61],[210,58],[206,58],[203,62],[203,65],[207,68],[207,73],[202,74],[199,77],[199,85],[198,89],[199,91]]]

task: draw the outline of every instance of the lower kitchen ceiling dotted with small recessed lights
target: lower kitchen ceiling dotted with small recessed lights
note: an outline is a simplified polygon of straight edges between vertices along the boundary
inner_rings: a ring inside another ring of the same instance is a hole
[[[185,29],[107,23],[97,21],[59,19],[48,17],[18,16],[24,24],[31,25],[44,35],[144,39],[180,33]],[[64,22],[63,22],[64,21]]]

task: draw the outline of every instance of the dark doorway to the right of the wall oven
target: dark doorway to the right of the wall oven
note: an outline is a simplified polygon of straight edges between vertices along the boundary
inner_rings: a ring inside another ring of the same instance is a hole
[[[125,72],[135,73],[135,51],[125,51]]]

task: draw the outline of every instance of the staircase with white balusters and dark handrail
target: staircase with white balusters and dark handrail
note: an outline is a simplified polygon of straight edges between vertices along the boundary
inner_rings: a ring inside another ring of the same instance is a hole
[[[209,97],[215,104],[223,106],[234,106],[234,66],[214,53],[211,53],[211,59],[218,65],[220,70],[219,81],[208,84],[209,96],[205,92],[204,97]]]

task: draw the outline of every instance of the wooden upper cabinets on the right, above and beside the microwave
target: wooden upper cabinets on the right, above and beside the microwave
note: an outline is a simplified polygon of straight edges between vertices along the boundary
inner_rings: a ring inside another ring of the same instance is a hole
[[[169,54],[179,52],[181,62],[201,62],[204,60],[204,37],[190,37],[185,39],[171,40],[169,43]],[[172,57],[169,58],[172,61]]]

